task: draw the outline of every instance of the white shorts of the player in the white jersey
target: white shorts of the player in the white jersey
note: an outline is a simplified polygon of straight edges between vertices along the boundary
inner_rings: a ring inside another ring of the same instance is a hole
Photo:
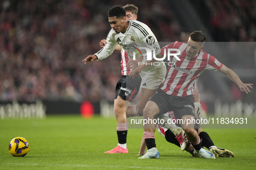
[[[147,88],[151,90],[155,90],[158,86],[164,82],[166,74],[165,65],[161,64],[156,69],[152,71],[147,71],[146,73],[140,73],[142,78],[140,88]]]

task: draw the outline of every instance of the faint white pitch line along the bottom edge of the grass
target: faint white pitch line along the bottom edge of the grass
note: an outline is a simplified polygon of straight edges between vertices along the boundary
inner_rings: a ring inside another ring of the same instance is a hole
[[[116,168],[143,168],[159,170],[217,170],[217,169],[194,169],[194,168],[172,168],[172,167],[137,167],[137,166],[111,166],[111,165],[72,165],[72,164],[8,164],[5,165],[41,165],[41,166],[70,166],[70,167],[116,167]]]

